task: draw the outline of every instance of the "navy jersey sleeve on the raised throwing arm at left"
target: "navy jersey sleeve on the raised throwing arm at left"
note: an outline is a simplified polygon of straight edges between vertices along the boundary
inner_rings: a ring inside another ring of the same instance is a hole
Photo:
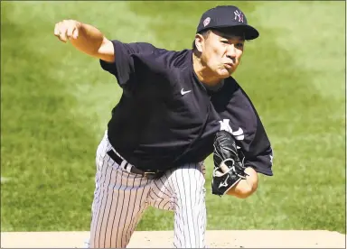
[[[112,40],[115,61],[99,60],[102,69],[108,71],[117,78],[117,82],[121,88],[134,80],[136,66],[134,55],[153,53],[155,47],[146,42],[123,43],[117,40]]]

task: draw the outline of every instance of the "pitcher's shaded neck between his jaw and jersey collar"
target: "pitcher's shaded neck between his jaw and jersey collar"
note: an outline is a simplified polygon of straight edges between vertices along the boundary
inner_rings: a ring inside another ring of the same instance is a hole
[[[214,76],[211,69],[209,69],[194,52],[192,53],[192,68],[202,84],[208,87],[215,87],[223,81],[223,78]]]

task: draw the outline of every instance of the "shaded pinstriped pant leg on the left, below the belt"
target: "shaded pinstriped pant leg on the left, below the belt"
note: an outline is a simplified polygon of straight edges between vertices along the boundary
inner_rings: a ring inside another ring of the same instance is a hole
[[[96,189],[90,224],[91,248],[126,247],[142,216],[149,181],[130,174],[109,158],[107,137],[97,152]]]

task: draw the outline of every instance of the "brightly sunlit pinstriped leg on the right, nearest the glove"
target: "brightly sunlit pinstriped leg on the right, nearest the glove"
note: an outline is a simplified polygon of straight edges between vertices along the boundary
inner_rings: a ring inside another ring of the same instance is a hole
[[[167,205],[165,201],[157,201],[158,206],[155,208],[174,209],[174,246],[205,247],[206,189],[202,163],[190,163],[170,170],[160,180],[164,184],[157,184],[158,180],[155,180],[156,186],[165,189],[168,194],[163,194],[162,198],[170,196],[168,200],[171,205]]]

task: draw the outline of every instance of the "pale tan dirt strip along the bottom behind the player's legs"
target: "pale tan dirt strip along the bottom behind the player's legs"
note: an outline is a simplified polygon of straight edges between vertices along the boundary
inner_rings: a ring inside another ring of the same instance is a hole
[[[173,248],[173,231],[136,231],[127,248]],[[4,232],[1,248],[83,248],[88,232]],[[208,231],[210,248],[345,248],[346,235],[328,231]]]

